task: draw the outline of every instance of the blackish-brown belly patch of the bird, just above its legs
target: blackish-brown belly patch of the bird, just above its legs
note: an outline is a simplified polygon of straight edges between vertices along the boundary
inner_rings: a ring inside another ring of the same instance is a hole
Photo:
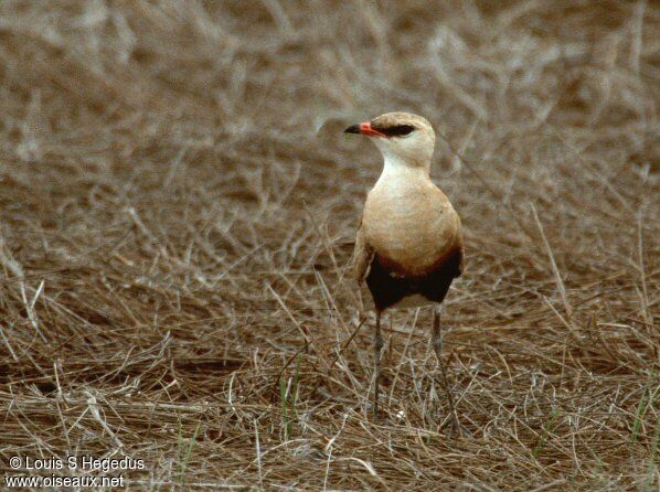
[[[383,311],[402,299],[422,295],[433,302],[443,302],[451,281],[460,275],[460,250],[424,277],[402,277],[384,268],[377,257],[371,261],[366,286],[376,310]]]

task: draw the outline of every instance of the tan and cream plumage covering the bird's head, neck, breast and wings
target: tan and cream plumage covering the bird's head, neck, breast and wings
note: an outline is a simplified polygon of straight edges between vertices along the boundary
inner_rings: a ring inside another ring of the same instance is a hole
[[[374,259],[392,276],[424,278],[441,269],[456,253],[460,275],[460,218],[429,177],[433,128],[426,119],[407,113],[387,113],[369,125],[372,130],[384,132],[383,137],[373,137],[385,164],[366,196],[358,229],[353,253],[355,279],[359,284],[366,280]],[[387,129],[402,126],[414,128],[405,140],[386,136]],[[415,139],[411,140],[413,136]]]

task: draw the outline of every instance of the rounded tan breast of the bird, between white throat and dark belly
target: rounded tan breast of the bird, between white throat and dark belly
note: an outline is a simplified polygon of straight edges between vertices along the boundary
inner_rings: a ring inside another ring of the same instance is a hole
[[[453,252],[460,222],[428,181],[379,183],[368,195],[363,227],[379,257],[405,275],[424,275]]]

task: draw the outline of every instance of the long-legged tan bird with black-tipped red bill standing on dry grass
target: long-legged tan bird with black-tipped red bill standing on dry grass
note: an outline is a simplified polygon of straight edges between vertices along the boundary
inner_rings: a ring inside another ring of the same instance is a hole
[[[374,418],[384,344],[381,314],[393,307],[430,306],[432,344],[451,425],[460,434],[440,357],[439,307],[464,271],[464,235],[460,217],[430,179],[435,131],[426,118],[395,111],[351,125],[344,132],[368,137],[383,157],[382,173],[366,195],[352,256],[354,278],[366,286],[375,309]]]

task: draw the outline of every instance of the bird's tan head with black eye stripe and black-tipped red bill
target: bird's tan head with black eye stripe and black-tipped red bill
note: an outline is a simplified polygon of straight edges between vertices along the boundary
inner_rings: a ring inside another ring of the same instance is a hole
[[[385,113],[371,121],[351,125],[344,132],[370,137],[385,159],[412,167],[429,164],[436,138],[426,118],[411,113]]]

